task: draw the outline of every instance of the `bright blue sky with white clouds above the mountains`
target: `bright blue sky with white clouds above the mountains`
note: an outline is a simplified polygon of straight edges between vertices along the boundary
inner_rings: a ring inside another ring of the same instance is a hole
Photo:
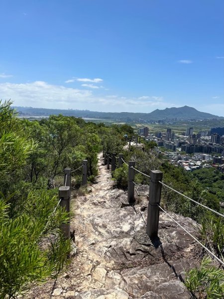
[[[224,116],[223,0],[1,0],[15,106]]]

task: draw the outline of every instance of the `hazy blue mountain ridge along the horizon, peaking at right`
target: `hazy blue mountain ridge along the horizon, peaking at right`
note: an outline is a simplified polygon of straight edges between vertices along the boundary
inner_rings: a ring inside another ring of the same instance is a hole
[[[131,113],[131,112],[98,112],[89,110],[60,110],[32,107],[14,107],[23,116],[49,116],[52,114],[62,114],[65,116],[74,116],[92,119],[118,120],[118,121],[158,121],[158,120],[205,120],[205,119],[223,119],[217,115],[200,112],[189,106],[172,107],[163,110],[156,109],[151,113]]]

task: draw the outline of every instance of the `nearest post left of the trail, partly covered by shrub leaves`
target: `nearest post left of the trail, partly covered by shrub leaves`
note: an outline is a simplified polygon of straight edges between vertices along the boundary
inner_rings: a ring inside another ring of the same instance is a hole
[[[70,212],[70,187],[69,186],[61,186],[59,187],[59,198],[60,198],[60,206],[65,208],[66,212]],[[67,222],[64,222],[60,226],[63,236],[66,239],[70,239],[70,219]]]

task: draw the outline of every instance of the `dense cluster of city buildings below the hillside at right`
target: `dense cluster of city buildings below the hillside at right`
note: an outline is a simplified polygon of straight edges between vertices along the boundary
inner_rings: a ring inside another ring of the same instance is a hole
[[[159,147],[165,147],[165,155],[171,163],[193,171],[201,167],[212,167],[224,171],[224,128],[212,128],[211,131],[194,133],[194,128],[187,128],[183,135],[175,135],[170,128],[166,132],[149,134],[148,128],[139,130],[139,135],[146,140],[153,140]],[[181,153],[182,152],[182,153]],[[210,162],[207,164],[206,162]],[[212,163],[211,163],[212,162]]]

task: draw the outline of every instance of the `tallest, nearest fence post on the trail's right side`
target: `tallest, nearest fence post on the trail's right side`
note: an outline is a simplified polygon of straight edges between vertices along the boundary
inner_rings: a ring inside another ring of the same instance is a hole
[[[157,237],[159,229],[159,206],[161,199],[161,188],[163,173],[160,170],[151,170],[150,172],[150,186],[149,186],[149,202],[148,202],[148,216],[146,232],[149,237]]]

